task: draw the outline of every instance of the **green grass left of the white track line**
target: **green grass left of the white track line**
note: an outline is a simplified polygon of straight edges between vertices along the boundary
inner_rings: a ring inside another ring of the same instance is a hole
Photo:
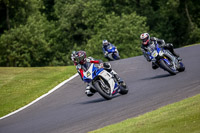
[[[0,67],[0,117],[27,105],[76,73],[67,67]]]

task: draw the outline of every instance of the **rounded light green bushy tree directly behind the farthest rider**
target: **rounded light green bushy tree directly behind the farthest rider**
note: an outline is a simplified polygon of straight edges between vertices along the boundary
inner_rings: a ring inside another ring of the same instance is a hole
[[[122,58],[140,55],[141,42],[138,38],[141,33],[148,31],[145,20],[145,17],[140,17],[135,12],[122,16],[114,13],[106,15],[106,19],[100,22],[104,26],[88,41],[88,54],[102,59],[102,40],[107,39],[118,47]]]

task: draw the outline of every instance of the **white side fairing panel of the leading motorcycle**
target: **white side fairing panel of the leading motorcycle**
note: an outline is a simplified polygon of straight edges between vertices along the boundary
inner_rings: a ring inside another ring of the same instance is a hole
[[[106,70],[103,70],[99,75],[101,75],[105,80],[108,81],[112,93],[115,87],[115,81],[113,80],[112,75],[108,73]]]

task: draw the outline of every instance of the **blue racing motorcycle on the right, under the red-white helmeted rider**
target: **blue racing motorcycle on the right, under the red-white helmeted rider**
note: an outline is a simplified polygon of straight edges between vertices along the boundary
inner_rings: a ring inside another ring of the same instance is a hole
[[[184,64],[179,61],[169,50],[160,48],[157,43],[152,44],[150,52],[147,54],[150,60],[158,67],[169,72],[171,75],[176,75],[177,72],[185,70]]]

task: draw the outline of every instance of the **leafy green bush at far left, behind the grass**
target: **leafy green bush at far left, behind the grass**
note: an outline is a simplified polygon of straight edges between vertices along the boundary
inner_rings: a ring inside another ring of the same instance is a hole
[[[44,28],[45,27],[45,28]],[[0,38],[0,64],[3,66],[48,65],[51,53],[47,35],[53,26],[45,17],[28,18],[26,25],[11,29]]]

